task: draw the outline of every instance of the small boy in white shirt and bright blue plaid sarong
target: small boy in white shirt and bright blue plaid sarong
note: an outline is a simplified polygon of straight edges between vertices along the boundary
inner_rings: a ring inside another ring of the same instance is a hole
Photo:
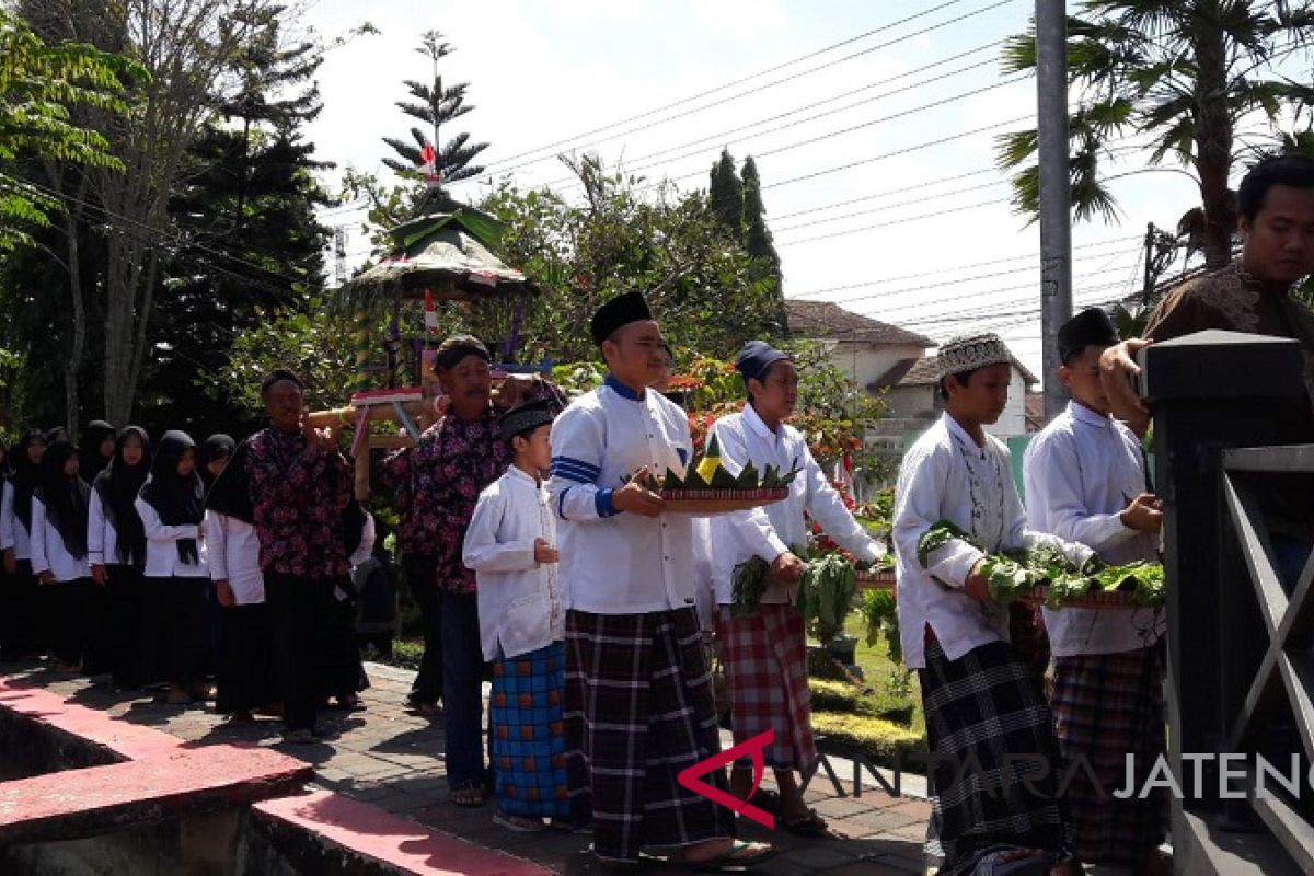
[[[565,611],[557,578],[556,520],[543,477],[552,465],[552,410],[531,402],[501,416],[514,461],[474,506],[463,561],[478,579],[480,644],[493,661],[489,696],[493,821],[543,830],[570,816],[566,781]]]

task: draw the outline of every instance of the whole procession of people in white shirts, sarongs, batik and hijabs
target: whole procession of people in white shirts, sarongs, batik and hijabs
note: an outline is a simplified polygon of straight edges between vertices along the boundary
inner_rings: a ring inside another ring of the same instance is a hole
[[[1261,162],[1239,208],[1240,260],[1169,296],[1151,331],[1267,326],[1314,351],[1314,315],[1289,298],[1314,269],[1314,162]],[[774,733],[765,760],[779,792],[754,802],[794,833],[827,835],[795,779],[817,758],[805,632],[791,605],[799,546],[811,519],[859,561],[882,550],[786,422],[798,402],[787,353],[762,341],[740,352],[748,401],[712,432],[732,474],[750,464],[800,474],[782,502],[704,519],[670,512],[643,477],[683,471],[694,457],[689,419],[662,391],[670,348],[645,298],[606,302],[590,332],[607,376],[569,405],[541,380],[509,380],[495,395],[491,356],[474,338],[436,352],[440,416],[384,462],[424,629],[410,705],[443,713],[456,805],[493,797],[494,818],[512,830],[589,827],[594,855],[622,869],[645,858],[752,868],[775,850],[736,839],[732,812],[677,779],[720,750],[706,640],[720,647],[736,742]],[[1147,418],[1125,405],[1122,381],[1143,341],[1120,341],[1097,310],[1058,341],[1055,377],[1072,402],[1028,449],[1025,507],[1007,445],[986,431],[1014,361],[988,332],[941,345],[943,415],[896,486],[901,644],[934,755],[926,847],[946,876],[1075,873],[1081,860],[1164,869],[1166,799],[1095,793],[1121,785],[1127,754],[1150,768],[1163,751],[1162,617],[1046,609],[1042,682],[983,575],[986,554],[1017,548],[1074,562],[1158,556],[1162,507],[1137,435]],[[172,431],[152,452],[142,429],[113,435],[105,423],[80,448],[58,431],[22,439],[0,503],[0,657],[49,651],[62,670],[163,683],[180,703],[204,699],[213,672],[221,711],[279,707],[290,741],[315,738],[330,699],[359,705],[352,573],[371,567],[376,528],[351,498],[336,435],[306,424],[297,376],[269,374],[261,395],[269,427],[238,445],[212,436],[198,452]],[[1314,440],[1309,405],[1298,407],[1297,437]],[[1293,521],[1280,552],[1290,582],[1314,510],[1309,495],[1271,499]],[[921,536],[945,520],[964,536],[920,554]],[[752,557],[769,563],[769,586],[740,616],[732,579]],[[1060,795],[1055,766],[1077,758],[1087,770]],[[744,797],[746,766],[707,781]]]

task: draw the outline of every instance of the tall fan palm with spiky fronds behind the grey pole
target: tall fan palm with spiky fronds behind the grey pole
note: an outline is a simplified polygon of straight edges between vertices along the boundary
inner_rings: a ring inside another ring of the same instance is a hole
[[[1198,246],[1209,267],[1222,267],[1236,225],[1227,188],[1234,162],[1277,146],[1292,121],[1307,127],[1314,89],[1279,66],[1309,68],[1314,13],[1282,0],[1084,0],[1076,7],[1067,46],[1077,101],[1068,120],[1076,218],[1117,217],[1101,164],[1130,142],[1147,141],[1151,164],[1175,163],[1198,184]],[[1010,74],[1035,67],[1034,26],[1005,43],[1003,60]],[[999,164],[1028,165],[1035,143],[1034,130],[1003,135]],[[1038,171],[1030,164],[1013,177],[1013,201],[1035,217],[1038,198]],[[1189,225],[1190,217],[1184,219]]]

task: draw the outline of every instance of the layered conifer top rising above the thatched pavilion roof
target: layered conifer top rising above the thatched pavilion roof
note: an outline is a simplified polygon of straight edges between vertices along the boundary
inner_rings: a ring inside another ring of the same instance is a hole
[[[411,79],[405,80],[405,85],[414,101],[399,100],[397,101],[397,106],[407,116],[426,122],[432,130],[426,131],[418,126],[411,127],[410,135],[414,144],[396,137],[385,137],[384,142],[392,146],[402,160],[385,158],[384,164],[402,176],[414,177],[419,173],[418,168],[424,163],[422,155],[424,143],[432,142],[436,151],[435,169],[443,183],[455,183],[478,176],[484,172],[484,168],[470,162],[489,147],[487,143],[472,143],[470,135],[461,133],[439,147],[442,142],[439,139],[442,126],[474,109],[474,106],[465,102],[465,89],[470,84],[456,83],[455,85],[444,85],[443,77],[438,75],[438,62],[455,51],[451,43],[443,42],[443,34],[430,30],[420,37],[420,43],[422,46],[415,51],[427,55],[432,60],[434,81],[426,85]]]

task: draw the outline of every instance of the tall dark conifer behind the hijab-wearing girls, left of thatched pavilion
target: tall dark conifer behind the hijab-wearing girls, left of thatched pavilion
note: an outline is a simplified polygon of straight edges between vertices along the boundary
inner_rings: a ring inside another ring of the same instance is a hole
[[[313,45],[281,47],[271,16],[244,46],[242,88],[221,105],[225,121],[188,154],[192,172],[170,202],[183,240],[167,272],[176,280],[158,296],[143,374],[147,424],[233,428],[233,412],[197,391],[202,376],[227,362],[261,311],[304,309],[323,286],[327,229],[314,208],[330,201],[314,171],[326,165],[300,134],[322,105],[311,84],[319,62]]]

